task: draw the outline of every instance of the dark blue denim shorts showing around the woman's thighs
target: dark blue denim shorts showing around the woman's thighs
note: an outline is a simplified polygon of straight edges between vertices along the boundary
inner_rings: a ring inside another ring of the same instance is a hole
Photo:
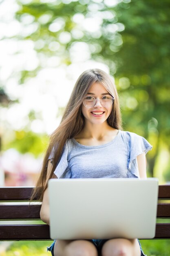
[[[138,239],[137,239],[138,240]],[[50,245],[49,247],[47,247],[47,252],[50,251],[52,256],[54,256],[54,245],[55,245],[55,241],[52,243],[52,245]],[[104,243],[106,241],[108,241],[108,239],[92,239],[92,240],[88,240],[91,243],[93,243],[93,245],[95,245],[97,252],[98,252],[98,256],[102,256],[101,251],[102,251],[102,246],[104,245]],[[139,242],[139,240],[138,240]],[[139,242],[140,248],[141,248],[141,244]],[[144,254],[142,248],[141,248],[141,256],[147,256],[146,254]]]

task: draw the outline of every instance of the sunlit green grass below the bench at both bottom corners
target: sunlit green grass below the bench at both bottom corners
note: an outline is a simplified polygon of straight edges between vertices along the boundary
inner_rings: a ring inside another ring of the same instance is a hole
[[[51,256],[46,247],[52,241],[16,241],[1,256]],[[147,256],[170,256],[170,240],[140,240]]]

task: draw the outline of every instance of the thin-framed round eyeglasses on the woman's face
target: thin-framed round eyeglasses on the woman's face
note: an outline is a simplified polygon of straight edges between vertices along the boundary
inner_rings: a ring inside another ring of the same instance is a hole
[[[86,96],[83,99],[83,105],[86,108],[93,108],[96,101],[100,101],[103,107],[110,107],[113,104],[114,98],[112,96],[103,96],[102,99],[95,99],[93,96]]]

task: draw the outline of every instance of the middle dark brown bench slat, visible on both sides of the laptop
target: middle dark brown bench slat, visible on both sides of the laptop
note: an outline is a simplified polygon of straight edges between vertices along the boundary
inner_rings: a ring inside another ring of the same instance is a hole
[[[18,211],[18,209],[20,209],[20,211]],[[41,204],[2,204],[0,205],[0,219],[40,219],[40,209]],[[170,204],[158,204],[157,218],[170,218]]]

